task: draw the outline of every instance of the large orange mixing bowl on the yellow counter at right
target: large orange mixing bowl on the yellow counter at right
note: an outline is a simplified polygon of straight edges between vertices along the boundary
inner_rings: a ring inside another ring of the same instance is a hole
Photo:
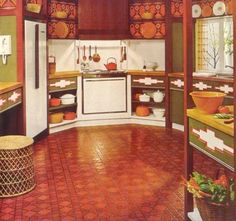
[[[190,93],[197,109],[205,114],[214,114],[222,105],[225,94],[215,91],[193,91]]]

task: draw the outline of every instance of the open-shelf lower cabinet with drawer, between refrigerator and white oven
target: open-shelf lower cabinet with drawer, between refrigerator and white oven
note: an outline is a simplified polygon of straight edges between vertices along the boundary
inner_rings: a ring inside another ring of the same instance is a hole
[[[58,106],[49,106],[49,115],[53,113],[66,113],[73,112],[77,113],[77,77],[50,77],[49,79],[49,97],[59,98],[63,95],[70,94],[75,96],[74,102],[70,104],[60,104]],[[49,127],[57,127],[60,125],[65,125],[72,123],[77,119],[73,120],[63,120],[61,123],[50,123]]]

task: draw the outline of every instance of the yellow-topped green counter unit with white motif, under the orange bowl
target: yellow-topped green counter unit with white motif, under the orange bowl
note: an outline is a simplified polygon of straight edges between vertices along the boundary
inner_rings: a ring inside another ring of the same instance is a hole
[[[225,119],[217,119],[214,114],[204,114],[197,109],[188,109],[187,115],[190,144],[234,171],[234,123],[227,123]]]

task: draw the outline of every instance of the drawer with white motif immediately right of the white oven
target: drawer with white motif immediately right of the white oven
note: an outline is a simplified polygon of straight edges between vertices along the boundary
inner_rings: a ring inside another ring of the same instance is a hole
[[[165,87],[164,77],[157,76],[132,76],[131,84],[134,87]]]

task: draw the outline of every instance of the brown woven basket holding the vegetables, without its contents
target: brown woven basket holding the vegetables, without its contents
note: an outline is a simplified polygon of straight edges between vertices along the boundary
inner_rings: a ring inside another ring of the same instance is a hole
[[[195,198],[195,202],[203,221],[234,221],[233,206],[213,204],[199,198]]]

